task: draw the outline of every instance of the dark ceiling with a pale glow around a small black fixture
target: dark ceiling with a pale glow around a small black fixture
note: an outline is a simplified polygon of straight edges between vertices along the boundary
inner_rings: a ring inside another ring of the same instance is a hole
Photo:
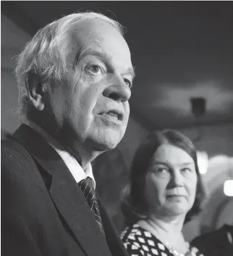
[[[78,10],[127,28],[136,79],[131,116],[148,130],[233,123],[232,1],[2,1],[1,13],[30,35]],[[192,115],[190,97],[206,98]]]

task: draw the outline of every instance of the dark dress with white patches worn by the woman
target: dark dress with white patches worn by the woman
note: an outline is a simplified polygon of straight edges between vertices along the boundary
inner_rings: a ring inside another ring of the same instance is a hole
[[[135,223],[122,231],[121,239],[130,256],[174,256],[151,232]],[[182,254],[179,254],[182,255]],[[190,247],[190,256],[203,256],[196,247]]]

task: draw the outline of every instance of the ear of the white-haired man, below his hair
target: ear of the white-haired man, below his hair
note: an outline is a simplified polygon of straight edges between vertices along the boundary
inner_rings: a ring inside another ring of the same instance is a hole
[[[30,72],[25,84],[30,102],[37,110],[43,110],[45,107],[46,83],[43,83],[39,75]]]

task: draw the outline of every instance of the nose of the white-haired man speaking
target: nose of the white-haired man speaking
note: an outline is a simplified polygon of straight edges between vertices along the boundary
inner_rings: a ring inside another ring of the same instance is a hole
[[[131,90],[121,76],[113,75],[109,80],[110,85],[104,89],[103,96],[114,99],[117,102],[127,102],[131,96]]]

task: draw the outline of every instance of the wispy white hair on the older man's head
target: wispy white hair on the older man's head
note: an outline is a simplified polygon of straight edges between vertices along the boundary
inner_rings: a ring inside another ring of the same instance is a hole
[[[54,79],[61,82],[67,73],[67,56],[72,50],[70,31],[81,20],[103,20],[124,35],[124,27],[119,22],[96,12],[78,12],[67,15],[46,25],[27,43],[17,57],[15,73],[19,87],[20,111],[25,114],[28,104],[27,78],[33,72],[43,80]]]

